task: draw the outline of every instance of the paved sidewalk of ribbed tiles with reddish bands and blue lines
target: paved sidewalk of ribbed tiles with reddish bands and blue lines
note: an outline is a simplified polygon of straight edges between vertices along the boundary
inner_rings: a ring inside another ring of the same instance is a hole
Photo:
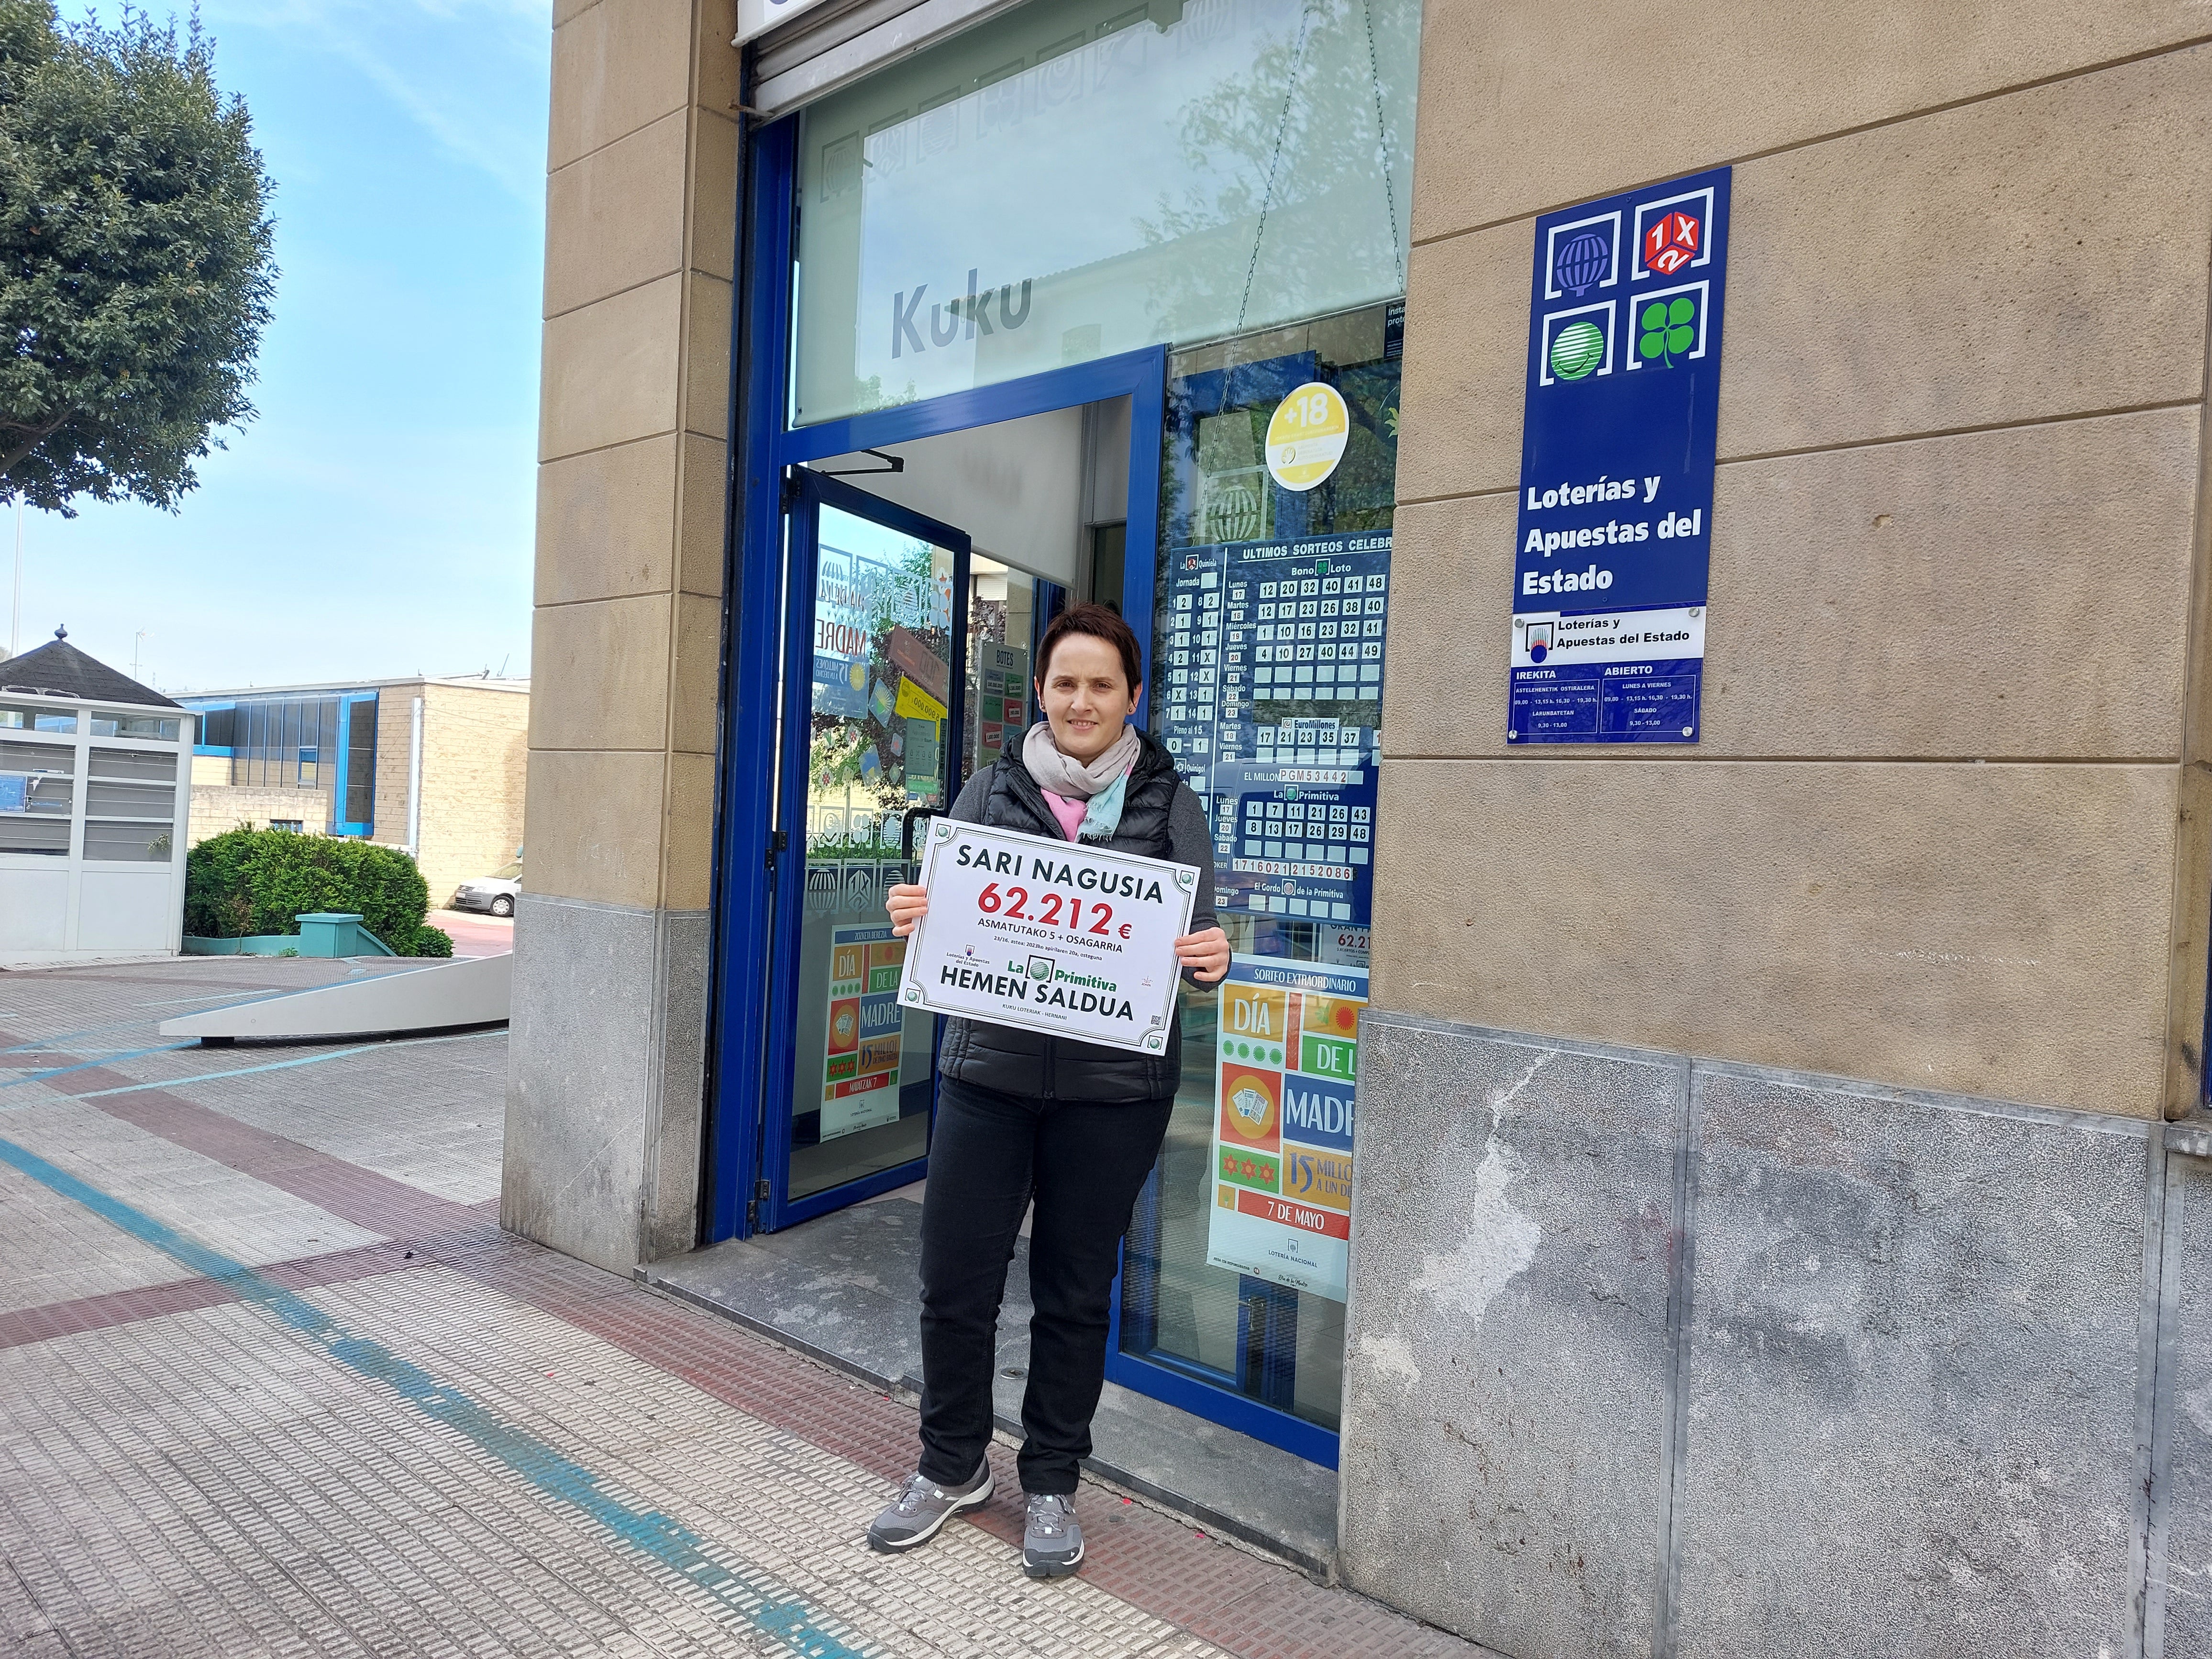
[[[498,1228],[507,1033],[166,1046],[374,964],[0,973],[0,1652],[1478,1655],[1099,1486],[860,1542],[914,1413]]]

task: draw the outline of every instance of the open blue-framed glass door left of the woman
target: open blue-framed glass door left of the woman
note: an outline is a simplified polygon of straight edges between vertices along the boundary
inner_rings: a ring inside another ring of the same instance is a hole
[[[969,538],[794,469],[763,1225],[922,1177],[936,1020],[898,1006],[885,889],[960,787]]]

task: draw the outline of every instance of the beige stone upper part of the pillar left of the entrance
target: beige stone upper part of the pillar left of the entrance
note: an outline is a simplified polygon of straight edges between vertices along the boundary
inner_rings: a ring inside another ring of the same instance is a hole
[[[734,4],[560,4],[531,889],[706,909],[737,212]]]

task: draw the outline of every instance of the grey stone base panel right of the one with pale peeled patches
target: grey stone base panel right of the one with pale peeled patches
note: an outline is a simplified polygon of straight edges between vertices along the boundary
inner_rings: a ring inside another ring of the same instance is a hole
[[[2135,1652],[2143,1126],[1694,1097],[1677,1652]]]

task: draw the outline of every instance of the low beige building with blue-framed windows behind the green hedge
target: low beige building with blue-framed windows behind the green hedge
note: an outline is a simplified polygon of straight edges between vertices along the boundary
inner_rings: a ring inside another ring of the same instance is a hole
[[[192,692],[192,841],[248,825],[405,847],[445,905],[522,845],[529,692],[491,677]]]

